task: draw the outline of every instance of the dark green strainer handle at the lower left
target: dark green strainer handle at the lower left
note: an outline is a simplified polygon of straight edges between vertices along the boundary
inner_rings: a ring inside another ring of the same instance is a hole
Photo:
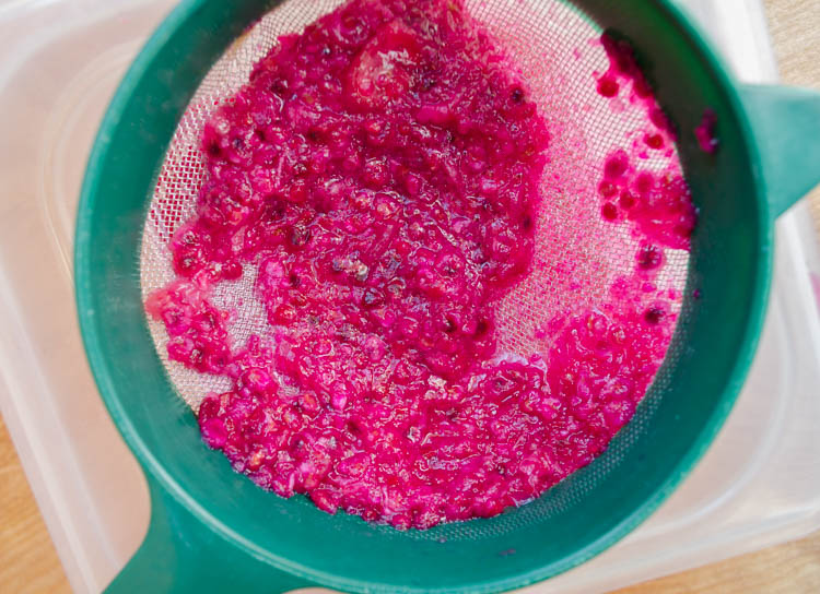
[[[183,508],[154,479],[148,477],[148,483],[151,492],[148,534],[106,593],[277,594],[315,585],[229,543]]]

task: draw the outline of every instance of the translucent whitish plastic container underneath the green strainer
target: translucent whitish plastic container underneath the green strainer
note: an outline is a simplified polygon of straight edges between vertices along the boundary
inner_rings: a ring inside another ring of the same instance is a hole
[[[741,79],[771,81],[757,0],[682,2]],[[114,4],[114,5],[113,5]],[[70,253],[98,120],[168,0],[0,2],[0,407],[78,592],[98,592],[148,526],[145,483],[87,370]],[[664,507],[590,562],[528,592],[601,592],[820,526],[820,252],[806,205],[777,224],[761,347],[714,445]],[[815,272],[818,272],[815,269]]]

